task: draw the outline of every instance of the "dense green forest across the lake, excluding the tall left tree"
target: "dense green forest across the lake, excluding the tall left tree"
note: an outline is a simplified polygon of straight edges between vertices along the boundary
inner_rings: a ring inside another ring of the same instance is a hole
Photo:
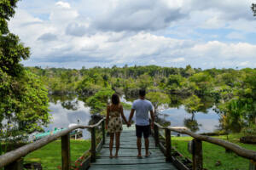
[[[40,67],[26,70],[41,78],[50,95],[71,99],[77,96],[90,106],[91,113],[105,114],[113,93],[125,95],[129,100],[137,97],[140,88],[145,88],[156,114],[160,105],[184,105],[193,121],[197,111],[207,112],[214,106],[221,117],[222,130],[255,133],[256,69],[202,70],[190,65],[185,68],[125,65],[120,68],[114,65],[80,70]]]

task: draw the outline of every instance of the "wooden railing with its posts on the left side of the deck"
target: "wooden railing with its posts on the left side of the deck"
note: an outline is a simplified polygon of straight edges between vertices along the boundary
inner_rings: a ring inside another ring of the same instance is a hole
[[[96,128],[102,126],[102,140],[99,144],[96,144]],[[56,139],[61,138],[61,160],[62,160],[62,170],[70,170],[70,138],[69,133],[78,128],[89,128],[91,132],[91,145],[90,145],[90,156],[85,160],[89,165],[90,161],[96,161],[96,152],[101,149],[102,144],[105,143],[105,118],[97,122],[95,125],[83,126],[76,125],[69,127],[60,133],[55,133],[49,137],[39,139],[31,144],[26,144],[16,150],[9,151],[8,153],[0,156],[0,168],[8,170],[20,170],[22,169],[23,157],[31,153],[34,150],[42,148],[44,145],[49,144]],[[97,145],[97,146],[96,146]],[[89,163],[88,163],[89,162]],[[85,166],[88,166],[85,165]]]

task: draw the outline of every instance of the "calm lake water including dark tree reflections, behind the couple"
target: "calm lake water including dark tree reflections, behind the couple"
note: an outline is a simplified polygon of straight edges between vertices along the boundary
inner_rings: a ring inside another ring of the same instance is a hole
[[[101,120],[102,116],[94,116],[90,114],[90,108],[84,105],[84,102],[73,98],[73,96],[54,97],[50,98],[49,109],[52,114],[52,122],[49,127],[44,130],[53,130],[55,127],[68,127],[72,123],[79,123],[83,125],[95,124]],[[121,98],[122,102],[132,104],[131,100],[127,101],[124,96]],[[180,99],[172,97],[172,105],[168,108],[160,107],[159,116],[156,119],[163,126],[185,126],[189,127],[192,132],[196,133],[212,133],[218,127],[219,116],[213,111],[213,102],[211,99],[206,99],[204,106],[199,112],[193,114],[185,111]],[[210,109],[207,109],[210,107]],[[126,118],[130,115],[130,110],[124,111]],[[134,116],[135,117],[135,116]],[[133,117],[133,121],[134,121]],[[83,130],[84,139],[90,139],[90,132]]]

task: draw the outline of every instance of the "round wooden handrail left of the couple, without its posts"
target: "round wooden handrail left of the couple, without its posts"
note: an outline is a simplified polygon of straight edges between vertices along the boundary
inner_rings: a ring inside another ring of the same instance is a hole
[[[5,153],[3,156],[0,156],[0,167],[9,165],[9,163],[20,159],[20,157],[26,156],[27,154],[31,153],[34,150],[38,150],[38,149],[42,148],[44,145],[51,143],[55,139],[58,139],[61,136],[64,136],[67,133],[70,133],[75,129],[98,127],[104,120],[105,120],[105,118],[102,118],[102,120],[97,122],[95,125],[89,125],[89,126],[75,125],[73,127],[67,128],[59,133],[55,133],[55,134],[49,135],[48,137],[44,137],[43,139],[39,139],[31,144],[26,144],[16,150],[9,151],[9,152]]]

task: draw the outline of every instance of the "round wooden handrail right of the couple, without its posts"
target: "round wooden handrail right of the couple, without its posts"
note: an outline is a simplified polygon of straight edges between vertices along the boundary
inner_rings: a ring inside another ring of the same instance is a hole
[[[219,146],[222,146],[225,149],[232,150],[238,156],[256,161],[256,151],[247,150],[245,148],[242,148],[238,144],[234,144],[234,143],[231,143],[229,141],[225,141],[223,139],[215,139],[215,138],[212,138],[212,137],[209,137],[209,136],[196,134],[196,133],[193,133],[193,132],[187,130],[188,128],[186,128],[186,127],[178,127],[178,128],[177,127],[162,127],[157,122],[154,122],[154,125],[157,126],[157,127],[160,127],[161,129],[169,129],[169,130],[177,132],[177,133],[188,134],[189,136],[191,136],[195,139],[200,139],[202,141],[206,141],[206,142],[209,142],[209,143],[212,143],[212,144],[218,144]]]

